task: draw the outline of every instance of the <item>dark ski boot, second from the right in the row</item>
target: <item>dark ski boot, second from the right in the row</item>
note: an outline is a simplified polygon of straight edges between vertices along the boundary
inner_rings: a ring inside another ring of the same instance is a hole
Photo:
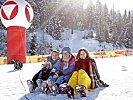
[[[74,98],[74,89],[67,85],[67,83],[63,83],[59,86],[59,89],[62,92],[65,92],[69,98]]]

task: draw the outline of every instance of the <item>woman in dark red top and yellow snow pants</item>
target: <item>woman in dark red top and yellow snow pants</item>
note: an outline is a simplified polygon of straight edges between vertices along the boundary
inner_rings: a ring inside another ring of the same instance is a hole
[[[68,81],[68,85],[79,92],[82,89],[81,96],[86,96],[84,89],[93,89],[95,87],[92,60],[86,49],[78,51],[75,71]]]

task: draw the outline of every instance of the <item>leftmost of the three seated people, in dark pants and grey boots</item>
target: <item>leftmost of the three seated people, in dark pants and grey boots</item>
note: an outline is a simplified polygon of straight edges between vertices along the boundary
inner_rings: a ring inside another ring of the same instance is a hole
[[[58,60],[59,60],[59,51],[53,50],[51,52],[51,56],[47,57],[47,62],[42,64],[41,70],[33,76],[32,81],[27,80],[30,92],[33,92],[36,87],[41,87],[42,81],[48,79],[50,71],[56,65]]]

